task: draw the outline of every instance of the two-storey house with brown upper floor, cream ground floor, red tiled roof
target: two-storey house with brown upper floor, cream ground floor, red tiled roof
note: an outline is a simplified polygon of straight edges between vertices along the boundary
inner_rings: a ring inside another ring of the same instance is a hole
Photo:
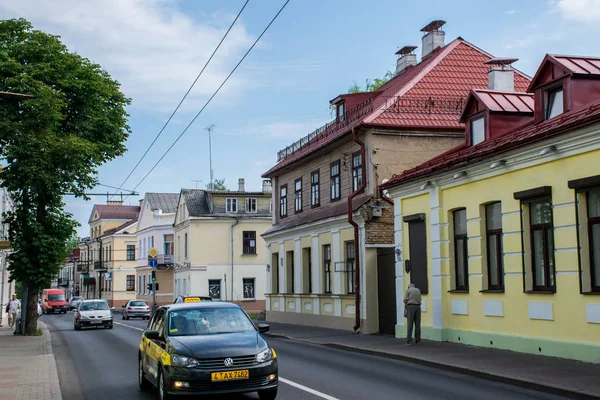
[[[443,21],[422,29],[379,90],[339,95],[336,118],[278,154],[267,245],[270,321],[395,332],[394,212],[379,183],[464,141],[460,113],[473,87],[486,88],[491,55]],[[515,87],[529,78],[516,72]]]

